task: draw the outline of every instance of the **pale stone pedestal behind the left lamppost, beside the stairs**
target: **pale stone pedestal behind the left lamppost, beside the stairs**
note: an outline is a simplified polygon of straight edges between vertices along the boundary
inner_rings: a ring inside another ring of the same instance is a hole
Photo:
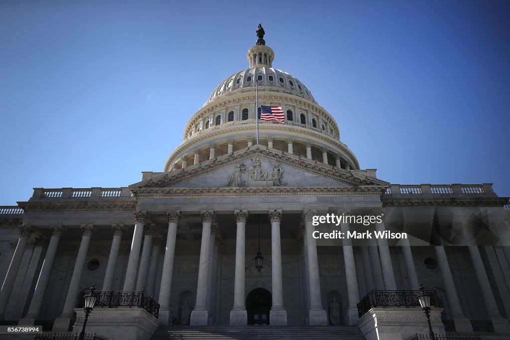
[[[82,331],[85,311],[75,308],[77,313],[73,333]],[[104,335],[111,340],[149,340],[162,323],[142,308],[94,308],[87,320],[87,334]]]

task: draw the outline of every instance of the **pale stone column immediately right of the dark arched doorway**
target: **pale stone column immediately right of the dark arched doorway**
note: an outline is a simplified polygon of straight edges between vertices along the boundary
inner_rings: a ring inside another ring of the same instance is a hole
[[[271,221],[271,281],[273,306],[269,312],[269,323],[273,326],[287,326],[287,311],[284,308],[282,287],[282,245],[280,240],[280,222],[282,210],[270,210]]]

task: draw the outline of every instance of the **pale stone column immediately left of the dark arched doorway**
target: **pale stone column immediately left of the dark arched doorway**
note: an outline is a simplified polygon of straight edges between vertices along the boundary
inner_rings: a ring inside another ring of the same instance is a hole
[[[234,211],[237,220],[236,236],[236,271],[234,279],[234,308],[230,312],[231,326],[246,326],[248,317],[244,300],[244,271],[245,271],[245,227],[248,220],[247,210]]]

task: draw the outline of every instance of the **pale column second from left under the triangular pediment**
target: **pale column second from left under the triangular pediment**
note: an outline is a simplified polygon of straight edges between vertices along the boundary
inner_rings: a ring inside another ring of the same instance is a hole
[[[177,235],[177,223],[181,219],[181,212],[172,210],[166,212],[168,219],[168,236],[166,237],[165,258],[163,259],[163,273],[161,274],[160,286],[160,312],[159,320],[165,325],[170,322],[170,290],[172,287],[173,259],[175,254],[175,237]]]

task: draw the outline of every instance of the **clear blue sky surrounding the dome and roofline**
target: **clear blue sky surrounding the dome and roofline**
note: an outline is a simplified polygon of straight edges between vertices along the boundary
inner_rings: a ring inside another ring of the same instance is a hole
[[[510,196],[509,2],[312,3],[1,2],[0,204],[163,171],[259,23],[362,168]]]

